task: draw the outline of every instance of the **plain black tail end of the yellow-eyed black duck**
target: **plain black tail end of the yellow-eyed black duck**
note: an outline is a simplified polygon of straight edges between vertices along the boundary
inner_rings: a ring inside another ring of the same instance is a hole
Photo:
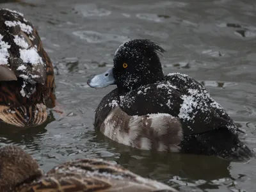
[[[226,127],[184,136],[181,146],[186,153],[220,156],[228,161],[248,161],[254,156],[238,135]]]

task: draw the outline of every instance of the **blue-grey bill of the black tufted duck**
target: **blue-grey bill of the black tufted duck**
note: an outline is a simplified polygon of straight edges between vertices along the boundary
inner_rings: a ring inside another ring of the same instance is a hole
[[[115,84],[115,79],[113,77],[113,68],[109,68],[103,74],[92,77],[88,80],[88,85],[92,88],[104,88],[111,84]]]

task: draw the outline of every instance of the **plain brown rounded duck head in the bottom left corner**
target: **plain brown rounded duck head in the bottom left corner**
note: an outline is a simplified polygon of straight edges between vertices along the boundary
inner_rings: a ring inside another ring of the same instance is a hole
[[[0,191],[14,191],[21,184],[42,177],[37,162],[22,148],[8,145],[0,148]]]

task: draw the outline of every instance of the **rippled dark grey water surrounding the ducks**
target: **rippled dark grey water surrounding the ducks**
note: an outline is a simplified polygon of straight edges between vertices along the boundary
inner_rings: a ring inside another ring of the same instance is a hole
[[[241,124],[242,140],[256,148],[255,1],[27,1],[1,4],[33,22],[54,63],[62,115],[49,124],[1,134],[38,159],[45,171],[63,161],[102,157],[181,191],[256,191],[256,161],[229,163],[217,157],[150,153],[96,134],[94,110],[113,87],[94,90],[88,77],[111,67],[123,42],[150,38],[166,49],[164,72],[202,82]]]

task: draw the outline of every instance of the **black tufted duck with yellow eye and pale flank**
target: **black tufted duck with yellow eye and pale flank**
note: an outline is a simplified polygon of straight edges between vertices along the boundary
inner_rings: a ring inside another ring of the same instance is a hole
[[[115,84],[95,113],[95,128],[118,143],[144,150],[215,155],[243,161],[252,151],[239,129],[202,84],[164,76],[158,44],[136,39],[115,52],[114,66],[88,80],[92,88]]]

